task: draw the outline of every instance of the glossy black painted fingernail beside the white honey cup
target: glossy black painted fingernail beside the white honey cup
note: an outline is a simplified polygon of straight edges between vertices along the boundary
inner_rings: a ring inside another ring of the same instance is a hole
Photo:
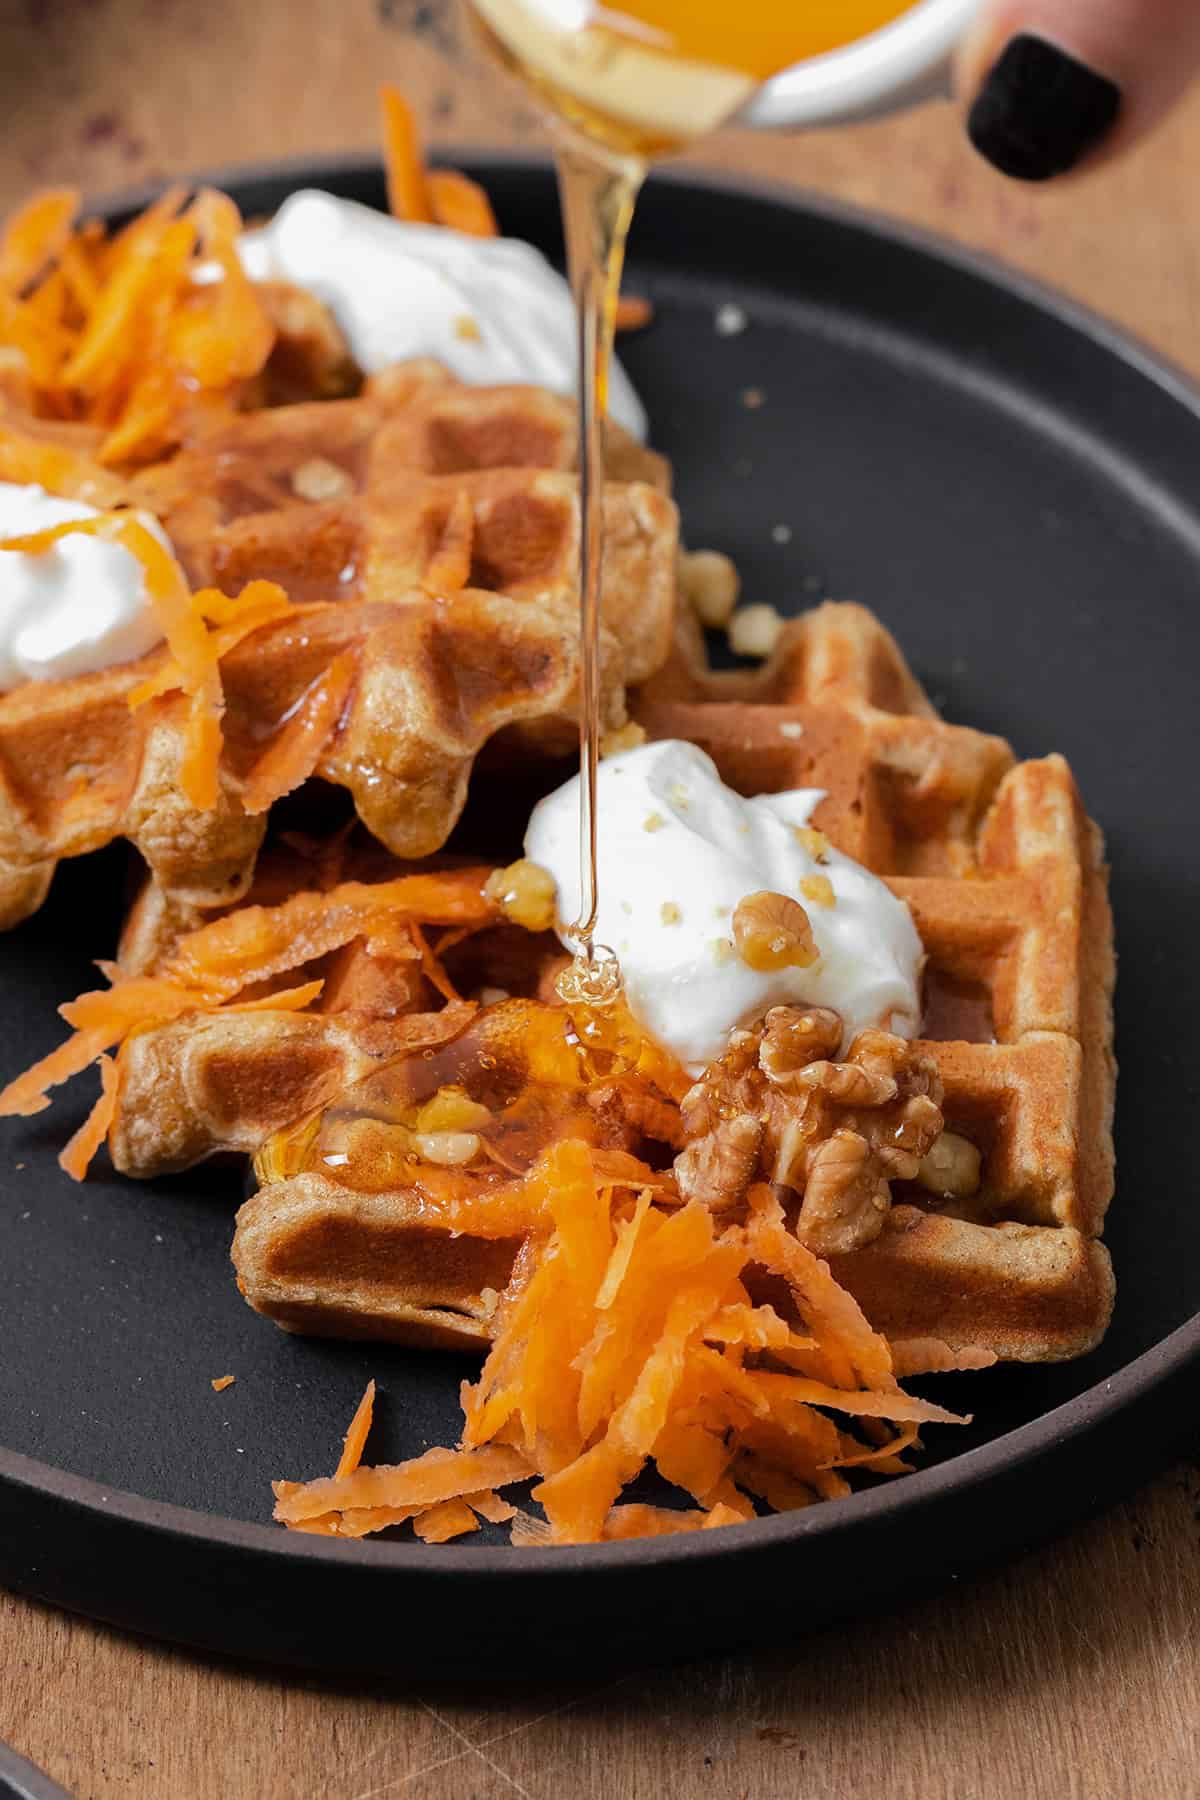
[[[1045,38],[1013,38],[993,65],[966,121],[988,162],[1022,182],[1074,169],[1112,130],[1121,88]]]

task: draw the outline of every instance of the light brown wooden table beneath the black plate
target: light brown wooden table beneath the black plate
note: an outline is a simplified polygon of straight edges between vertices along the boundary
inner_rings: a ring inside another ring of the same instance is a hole
[[[538,135],[471,68],[443,0],[11,0],[0,211],[43,182],[101,193],[371,148],[381,76],[435,140]],[[993,176],[948,108],[727,133],[702,160],[982,245],[1200,373],[1200,95],[1056,193]],[[1184,1800],[1200,1793],[1200,1462],[1024,1562],[786,1654],[470,1696],[331,1687],[0,1597],[0,1737],[77,1800]]]

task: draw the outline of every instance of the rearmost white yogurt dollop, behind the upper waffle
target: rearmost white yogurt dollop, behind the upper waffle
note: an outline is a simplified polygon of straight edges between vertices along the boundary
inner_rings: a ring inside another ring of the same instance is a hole
[[[570,290],[516,238],[408,225],[309,187],[246,232],[237,254],[252,281],[290,281],[324,301],[367,374],[435,356],[461,382],[576,391]],[[608,405],[646,437],[646,412],[615,358]]]

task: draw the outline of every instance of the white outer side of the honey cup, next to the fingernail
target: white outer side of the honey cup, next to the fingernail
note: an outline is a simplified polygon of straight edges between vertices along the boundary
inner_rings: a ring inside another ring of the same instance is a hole
[[[844,50],[813,56],[765,83],[738,113],[761,130],[844,124],[950,92],[954,49],[981,0],[918,0]]]

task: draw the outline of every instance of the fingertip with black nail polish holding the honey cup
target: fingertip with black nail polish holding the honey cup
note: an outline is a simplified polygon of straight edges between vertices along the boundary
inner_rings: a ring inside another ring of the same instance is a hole
[[[975,149],[1045,182],[1133,142],[1198,70],[1196,0],[988,0],[957,77]]]

